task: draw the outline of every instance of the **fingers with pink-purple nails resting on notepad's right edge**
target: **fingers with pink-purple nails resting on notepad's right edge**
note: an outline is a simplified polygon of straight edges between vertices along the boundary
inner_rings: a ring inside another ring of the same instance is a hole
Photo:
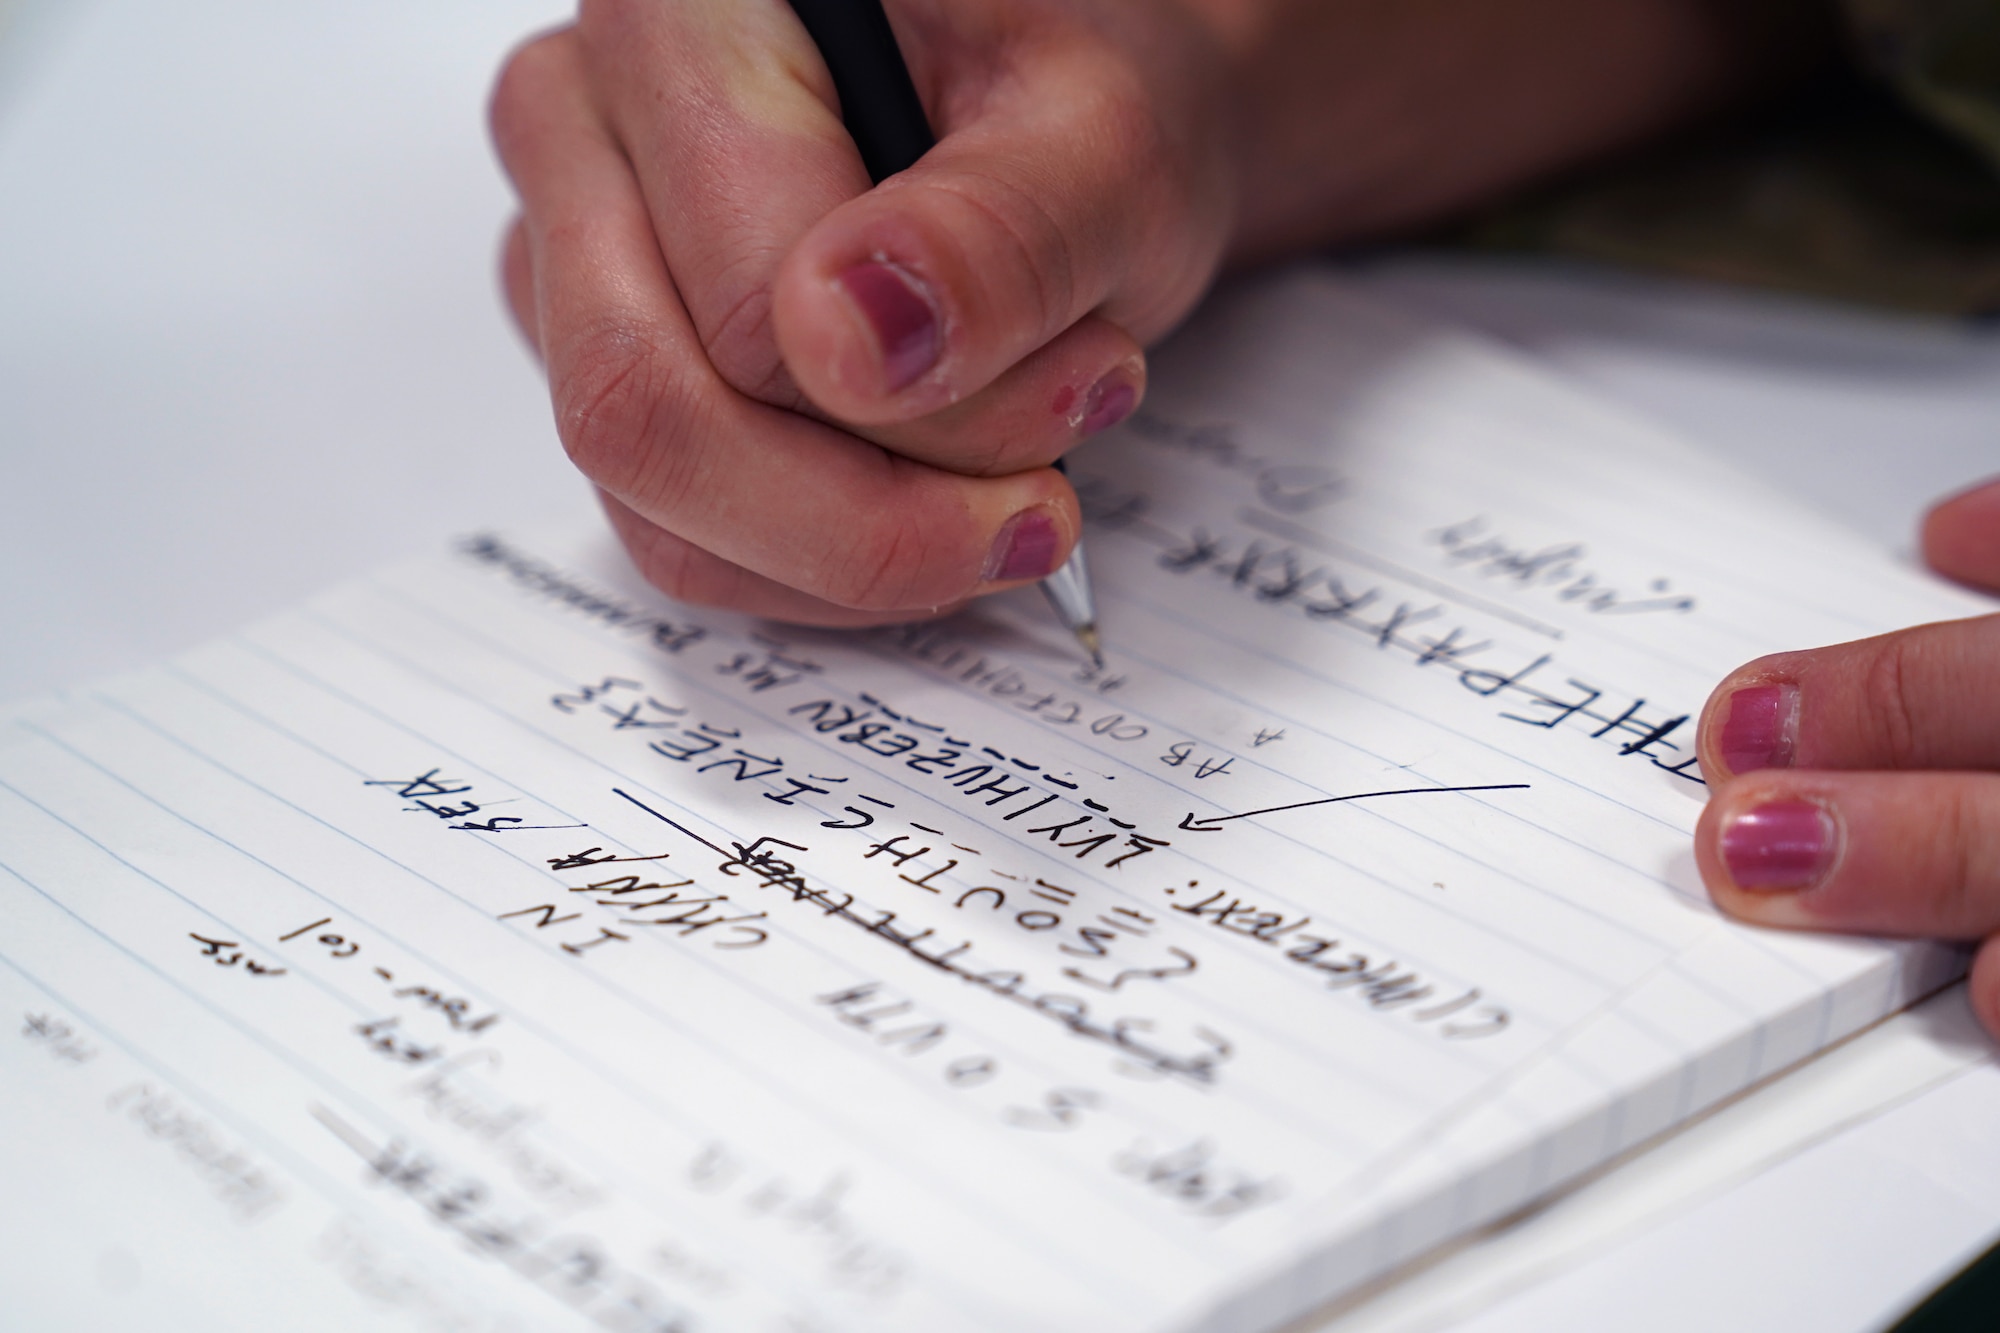
[[[1938,504],[1924,554],[2000,592],[2000,478]],[[1724,911],[1772,927],[1986,941],[2000,1035],[2000,614],[1778,652],[1702,713],[1696,829]]]

